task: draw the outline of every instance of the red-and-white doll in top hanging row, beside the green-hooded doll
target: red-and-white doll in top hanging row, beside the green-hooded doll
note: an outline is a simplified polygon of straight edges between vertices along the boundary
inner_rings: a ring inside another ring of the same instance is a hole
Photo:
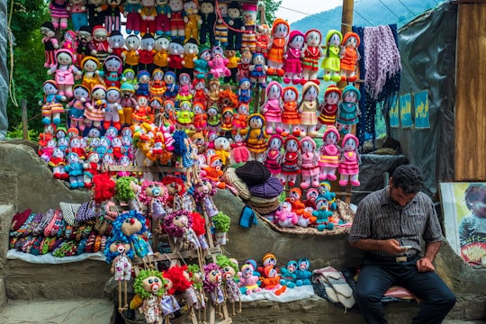
[[[302,51],[302,80],[301,85],[305,85],[307,81],[313,81],[319,85],[317,79],[317,72],[319,69],[319,60],[322,56],[320,51],[320,42],[322,35],[320,31],[311,29],[305,33],[305,46]]]

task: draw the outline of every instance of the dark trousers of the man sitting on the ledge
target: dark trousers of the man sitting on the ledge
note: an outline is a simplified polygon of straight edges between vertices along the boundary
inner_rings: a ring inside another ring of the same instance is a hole
[[[356,302],[366,323],[388,323],[382,297],[394,284],[407,288],[422,300],[413,324],[440,324],[444,320],[455,304],[455,295],[435,272],[419,273],[416,263],[417,258],[403,263],[365,260],[357,281]]]

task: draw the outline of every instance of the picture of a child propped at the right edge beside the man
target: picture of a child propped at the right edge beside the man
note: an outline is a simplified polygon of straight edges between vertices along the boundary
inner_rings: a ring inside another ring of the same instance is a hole
[[[446,239],[471,266],[486,267],[486,183],[439,184]]]

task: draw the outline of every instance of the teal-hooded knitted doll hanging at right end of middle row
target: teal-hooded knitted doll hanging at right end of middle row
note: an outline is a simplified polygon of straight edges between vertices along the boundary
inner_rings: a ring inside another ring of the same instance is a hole
[[[338,104],[338,116],[336,123],[341,134],[346,134],[349,130],[346,127],[355,125],[358,122],[359,99],[361,94],[353,85],[347,85],[342,94],[342,101]]]

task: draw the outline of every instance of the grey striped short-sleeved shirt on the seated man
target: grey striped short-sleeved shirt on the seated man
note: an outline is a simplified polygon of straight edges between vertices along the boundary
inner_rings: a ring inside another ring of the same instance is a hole
[[[411,246],[400,255],[372,251],[374,257],[413,256],[425,243],[442,241],[442,229],[432,200],[425,193],[418,193],[411,202],[401,207],[393,202],[387,188],[368,194],[358,205],[349,232],[349,242],[360,238],[395,238],[401,246]]]

